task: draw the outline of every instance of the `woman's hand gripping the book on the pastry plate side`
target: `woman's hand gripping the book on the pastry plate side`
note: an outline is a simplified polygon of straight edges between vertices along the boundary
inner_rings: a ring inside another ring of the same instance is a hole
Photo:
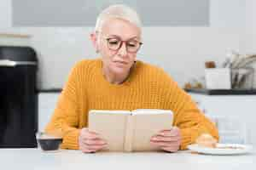
[[[161,130],[150,139],[150,144],[158,146],[161,150],[176,152],[181,144],[181,133],[178,127]]]

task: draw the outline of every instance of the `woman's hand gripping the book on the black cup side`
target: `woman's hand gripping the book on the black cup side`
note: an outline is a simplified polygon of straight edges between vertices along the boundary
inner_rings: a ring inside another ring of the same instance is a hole
[[[93,153],[107,147],[107,141],[102,139],[98,133],[82,128],[79,135],[79,150],[84,153]]]

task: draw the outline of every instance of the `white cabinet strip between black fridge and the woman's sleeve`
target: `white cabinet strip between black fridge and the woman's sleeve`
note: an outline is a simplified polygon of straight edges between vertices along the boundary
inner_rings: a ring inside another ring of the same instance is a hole
[[[55,105],[60,93],[38,94],[38,131],[44,131],[44,127],[50,120],[55,110]]]

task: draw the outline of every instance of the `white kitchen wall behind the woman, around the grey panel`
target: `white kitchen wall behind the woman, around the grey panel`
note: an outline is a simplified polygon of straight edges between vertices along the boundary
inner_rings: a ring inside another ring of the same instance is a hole
[[[191,77],[202,77],[206,60],[224,61],[227,48],[247,51],[245,42],[250,36],[244,35],[242,26],[246,1],[212,0],[210,27],[144,27],[138,59],[160,65],[180,85]],[[11,5],[10,0],[2,2]],[[8,28],[11,13],[0,10],[1,15],[9,15],[9,20],[0,31],[32,34],[40,61],[40,88],[61,88],[77,60],[96,57],[89,41],[90,27]]]

